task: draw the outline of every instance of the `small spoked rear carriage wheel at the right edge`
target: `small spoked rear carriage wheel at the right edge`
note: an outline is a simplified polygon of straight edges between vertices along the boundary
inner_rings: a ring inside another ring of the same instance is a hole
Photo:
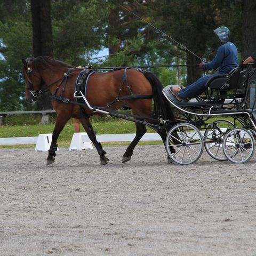
[[[234,128],[223,139],[223,153],[230,162],[246,163],[254,153],[255,141],[250,131]]]

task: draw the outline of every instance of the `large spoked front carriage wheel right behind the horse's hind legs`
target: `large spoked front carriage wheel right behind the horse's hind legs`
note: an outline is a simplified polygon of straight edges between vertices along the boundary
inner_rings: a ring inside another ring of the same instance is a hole
[[[172,127],[165,142],[168,155],[178,164],[195,163],[203,153],[203,137],[196,126],[182,123]],[[175,150],[175,153],[172,151]]]

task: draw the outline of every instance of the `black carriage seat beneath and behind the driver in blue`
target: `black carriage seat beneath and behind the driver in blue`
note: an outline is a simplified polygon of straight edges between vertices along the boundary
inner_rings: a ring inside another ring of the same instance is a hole
[[[245,86],[245,75],[245,70],[234,68],[227,75],[211,77],[205,85],[205,90],[231,90],[243,88]]]

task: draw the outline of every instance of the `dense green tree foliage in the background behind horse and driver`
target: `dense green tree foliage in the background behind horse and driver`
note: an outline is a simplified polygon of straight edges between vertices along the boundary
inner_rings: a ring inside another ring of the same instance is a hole
[[[10,3],[11,2],[11,3]],[[71,65],[145,66],[198,63],[193,54],[120,5],[210,60],[218,47],[213,29],[227,26],[242,51],[240,0],[54,0],[51,1],[53,57]],[[255,16],[254,16],[255,17]],[[108,48],[108,58],[93,59]],[[0,1],[0,110],[27,110],[21,58],[33,55],[29,0]],[[167,84],[186,84],[187,69],[151,69]],[[194,70],[191,79],[201,75]],[[192,74],[192,73],[191,73]]]

